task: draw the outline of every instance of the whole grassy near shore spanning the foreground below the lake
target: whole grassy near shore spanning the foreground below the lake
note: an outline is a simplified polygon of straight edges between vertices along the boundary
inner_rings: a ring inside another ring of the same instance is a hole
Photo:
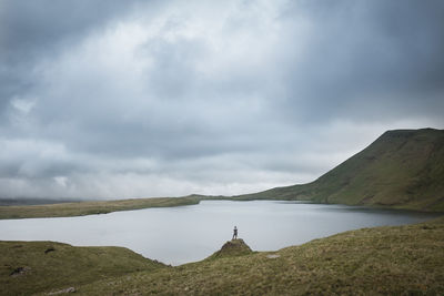
[[[69,247],[64,253],[44,255],[51,243],[39,246],[31,256],[28,246],[32,251],[33,244],[0,244],[1,254],[7,254],[0,264],[2,287],[28,287],[27,292],[38,293],[74,287],[79,295],[444,294],[444,217],[346,232],[272,253],[245,252],[240,246],[238,256],[230,248],[229,255],[216,253],[221,256],[178,267],[130,256],[129,251],[120,253],[122,248],[110,253],[112,248]],[[59,261],[46,257],[56,255]],[[74,257],[84,259],[77,265]],[[11,276],[18,266],[31,269]],[[43,267],[47,272],[40,272]],[[68,271],[70,276],[63,275]]]

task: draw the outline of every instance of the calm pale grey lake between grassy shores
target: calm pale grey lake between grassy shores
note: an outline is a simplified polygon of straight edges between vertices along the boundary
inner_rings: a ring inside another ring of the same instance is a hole
[[[1,241],[56,241],[74,246],[124,246],[180,265],[210,256],[232,237],[254,251],[276,251],[340,232],[423,222],[437,215],[346,205],[282,201],[203,201],[199,205],[145,208],[60,218],[0,221]]]

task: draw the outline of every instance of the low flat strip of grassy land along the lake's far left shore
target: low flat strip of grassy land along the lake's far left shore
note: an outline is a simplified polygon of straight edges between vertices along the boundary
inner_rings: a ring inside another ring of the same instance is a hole
[[[69,217],[92,214],[108,214],[115,211],[129,211],[147,207],[167,207],[199,204],[202,196],[133,198],[107,202],[79,202],[47,205],[0,206],[0,220]]]

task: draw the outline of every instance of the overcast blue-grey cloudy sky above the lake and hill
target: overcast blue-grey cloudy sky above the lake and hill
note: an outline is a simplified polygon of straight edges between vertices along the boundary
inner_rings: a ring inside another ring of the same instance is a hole
[[[0,0],[0,198],[234,195],[444,129],[444,1]]]

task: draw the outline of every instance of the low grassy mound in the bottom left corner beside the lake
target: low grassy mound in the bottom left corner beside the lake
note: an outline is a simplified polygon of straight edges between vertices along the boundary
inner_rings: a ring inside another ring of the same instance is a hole
[[[0,294],[58,292],[138,271],[168,268],[123,247],[73,247],[53,242],[0,242]]]

